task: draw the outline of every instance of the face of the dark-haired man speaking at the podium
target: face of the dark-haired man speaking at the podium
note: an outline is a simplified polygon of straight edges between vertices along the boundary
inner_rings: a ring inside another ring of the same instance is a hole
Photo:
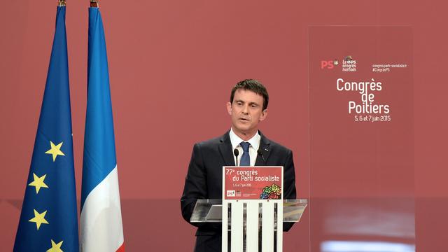
[[[232,118],[232,129],[239,137],[241,134],[247,137],[255,134],[258,123],[267,116],[267,109],[263,111],[262,107],[260,94],[244,89],[235,91],[232,104],[227,103],[227,110]]]

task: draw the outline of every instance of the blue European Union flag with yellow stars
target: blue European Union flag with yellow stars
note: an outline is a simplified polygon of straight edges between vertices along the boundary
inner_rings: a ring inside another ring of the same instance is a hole
[[[55,38],[14,251],[79,251],[65,6]]]

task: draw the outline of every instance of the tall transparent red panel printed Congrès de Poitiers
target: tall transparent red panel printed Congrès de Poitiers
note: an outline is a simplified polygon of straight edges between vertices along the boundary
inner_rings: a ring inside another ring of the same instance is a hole
[[[311,251],[415,251],[411,27],[309,27]]]

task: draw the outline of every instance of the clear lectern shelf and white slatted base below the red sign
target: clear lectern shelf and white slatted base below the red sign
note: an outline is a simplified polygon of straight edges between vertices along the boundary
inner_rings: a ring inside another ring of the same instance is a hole
[[[224,200],[224,203],[223,208],[223,200],[197,200],[190,221],[192,223],[227,223],[223,225],[222,251],[274,252],[282,251],[283,222],[300,221],[308,202],[307,200],[264,200],[262,202]]]

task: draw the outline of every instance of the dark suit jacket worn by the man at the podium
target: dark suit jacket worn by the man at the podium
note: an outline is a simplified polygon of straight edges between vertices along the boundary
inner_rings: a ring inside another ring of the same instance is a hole
[[[293,153],[270,141],[261,132],[260,136],[259,150],[262,151],[262,156],[258,155],[255,166],[283,166],[283,197],[295,199]],[[181,197],[182,216],[188,223],[197,199],[222,198],[223,166],[235,166],[229,132],[216,139],[195,144]],[[214,248],[221,251],[221,223],[190,224],[197,226],[195,251],[214,251]],[[283,230],[288,231],[291,226],[290,223],[283,223]]]

